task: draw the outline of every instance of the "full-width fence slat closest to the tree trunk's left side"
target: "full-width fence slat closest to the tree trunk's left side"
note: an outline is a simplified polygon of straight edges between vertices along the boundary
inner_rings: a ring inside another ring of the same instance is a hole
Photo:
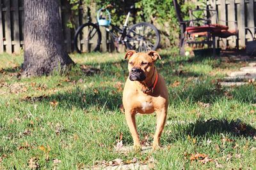
[[[20,52],[19,0],[13,0],[13,52]]]

